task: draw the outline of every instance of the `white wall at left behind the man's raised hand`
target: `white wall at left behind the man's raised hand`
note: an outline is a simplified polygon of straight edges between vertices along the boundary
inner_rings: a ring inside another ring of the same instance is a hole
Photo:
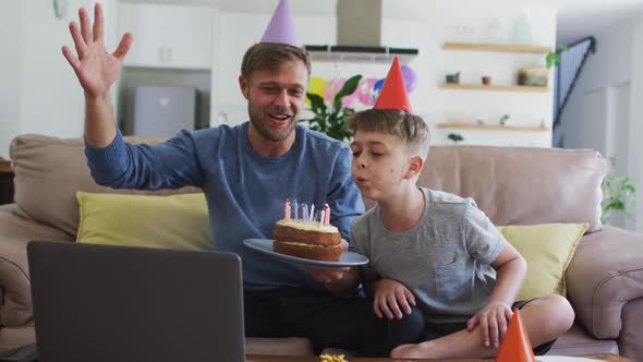
[[[106,41],[113,49],[117,0],[101,1],[106,15]],[[68,24],[77,21],[77,9],[93,9],[95,1],[70,0],[66,16],[53,14],[51,1],[3,0],[0,45],[14,51],[9,67],[2,67],[8,82],[0,83],[0,155],[22,133],[78,137],[83,132],[83,90],[62,56],[61,47],[72,45]],[[9,11],[8,10],[9,7]],[[90,11],[93,17],[93,11]],[[10,35],[11,34],[11,35]],[[17,44],[15,43],[17,40]],[[72,47],[73,48],[73,47]],[[4,52],[3,52],[4,53]],[[9,58],[9,57],[7,57]],[[4,60],[3,60],[4,61]]]

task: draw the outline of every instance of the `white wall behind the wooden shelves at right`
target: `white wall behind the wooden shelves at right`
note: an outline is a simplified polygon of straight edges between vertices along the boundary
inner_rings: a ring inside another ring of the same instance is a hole
[[[537,126],[542,121],[551,126],[553,93],[469,92],[446,90],[435,85],[444,82],[448,73],[461,71],[461,82],[480,84],[483,75],[490,75],[493,84],[515,84],[518,70],[544,64],[545,55],[515,55],[483,51],[445,51],[441,45],[453,41],[453,26],[469,24],[475,29],[473,41],[488,41],[490,28],[499,25],[499,36],[505,43],[512,41],[512,29],[518,17],[524,15],[532,29],[534,45],[554,48],[556,39],[556,9],[550,5],[518,5],[510,1],[440,1],[426,14],[428,32],[417,34],[415,39],[430,37],[421,64],[427,64],[433,73],[433,84],[427,93],[418,94],[421,104],[428,104],[428,120],[440,122],[482,119],[487,124],[498,124],[500,117],[511,116],[509,124]],[[495,24],[495,25],[494,25]],[[466,39],[464,39],[466,40]],[[471,41],[471,40],[470,40]],[[423,80],[424,81],[424,80]],[[490,145],[551,145],[550,132],[490,132],[433,129],[436,143],[448,143],[447,134],[460,133],[466,143]]]

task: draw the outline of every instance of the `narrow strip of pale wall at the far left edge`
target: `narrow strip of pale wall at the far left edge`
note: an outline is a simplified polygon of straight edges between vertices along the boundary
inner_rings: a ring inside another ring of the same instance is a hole
[[[9,158],[9,143],[20,133],[22,28],[24,2],[4,1],[0,11],[0,157]]]

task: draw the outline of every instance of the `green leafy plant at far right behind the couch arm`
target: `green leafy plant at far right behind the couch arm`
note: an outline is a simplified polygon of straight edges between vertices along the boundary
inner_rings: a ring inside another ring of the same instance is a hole
[[[603,216],[600,216],[603,224],[609,222],[611,212],[627,213],[634,205],[636,186],[631,177],[606,174],[602,186],[605,195],[602,203]]]

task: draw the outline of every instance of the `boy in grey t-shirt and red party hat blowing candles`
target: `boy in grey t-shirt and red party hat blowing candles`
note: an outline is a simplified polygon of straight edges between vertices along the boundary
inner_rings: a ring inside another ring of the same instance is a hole
[[[536,354],[546,352],[573,323],[573,310],[560,295],[514,303],[526,273],[522,256],[473,200],[415,185],[429,134],[411,114],[399,73],[396,59],[375,109],[348,121],[353,180],[377,202],[351,227],[356,251],[371,260],[366,292],[379,317],[426,321],[425,341],[399,346],[391,357],[493,357],[512,305]]]

